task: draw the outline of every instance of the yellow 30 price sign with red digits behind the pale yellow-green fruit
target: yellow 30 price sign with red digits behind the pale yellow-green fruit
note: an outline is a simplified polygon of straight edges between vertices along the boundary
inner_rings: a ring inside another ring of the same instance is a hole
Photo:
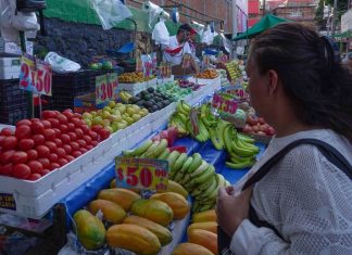
[[[117,74],[108,74],[96,77],[96,104],[115,100],[117,93]]]

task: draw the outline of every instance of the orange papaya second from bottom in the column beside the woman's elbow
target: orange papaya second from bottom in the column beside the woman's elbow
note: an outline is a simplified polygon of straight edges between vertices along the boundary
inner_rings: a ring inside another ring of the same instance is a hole
[[[217,234],[203,229],[192,229],[188,233],[188,242],[206,247],[217,255]]]

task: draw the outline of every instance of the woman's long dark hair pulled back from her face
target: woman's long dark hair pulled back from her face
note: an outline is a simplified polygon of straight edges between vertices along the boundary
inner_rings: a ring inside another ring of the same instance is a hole
[[[255,38],[250,56],[261,75],[278,73],[302,122],[352,140],[352,75],[336,61],[327,38],[299,23],[281,23]]]

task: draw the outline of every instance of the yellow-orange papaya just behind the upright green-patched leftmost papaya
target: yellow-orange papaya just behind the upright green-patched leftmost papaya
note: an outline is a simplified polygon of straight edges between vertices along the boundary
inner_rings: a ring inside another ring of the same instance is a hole
[[[121,224],[127,216],[123,207],[109,200],[91,201],[88,208],[93,215],[101,211],[103,213],[104,220],[112,224]]]

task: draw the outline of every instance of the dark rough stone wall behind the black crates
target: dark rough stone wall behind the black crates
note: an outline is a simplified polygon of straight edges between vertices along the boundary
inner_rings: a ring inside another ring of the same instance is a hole
[[[105,55],[105,50],[116,50],[133,41],[134,31],[113,28],[103,30],[101,26],[63,22],[56,18],[46,18],[47,36],[38,33],[35,51],[39,56],[54,51],[62,56],[87,67],[92,56]],[[149,40],[150,35],[138,33],[137,38]],[[147,38],[147,39],[146,39]],[[128,59],[123,55],[122,59]]]

